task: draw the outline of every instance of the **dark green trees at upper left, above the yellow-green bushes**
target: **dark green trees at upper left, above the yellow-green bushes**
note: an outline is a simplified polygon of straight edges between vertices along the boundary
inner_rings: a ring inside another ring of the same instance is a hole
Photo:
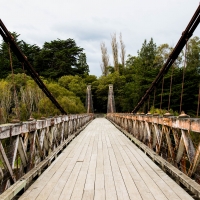
[[[78,47],[73,39],[53,40],[45,42],[43,47],[30,45],[18,40],[18,34],[12,33],[16,43],[26,55],[36,72],[44,78],[57,80],[63,75],[88,74],[89,66],[83,48]],[[6,78],[11,73],[8,45],[0,44],[0,78]],[[23,73],[23,65],[12,53],[14,73]]]

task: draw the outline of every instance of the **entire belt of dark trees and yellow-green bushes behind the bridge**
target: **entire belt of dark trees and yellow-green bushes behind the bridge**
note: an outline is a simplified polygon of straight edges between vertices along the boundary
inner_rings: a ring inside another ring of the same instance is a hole
[[[88,75],[86,55],[72,39],[46,42],[42,49],[23,41],[18,41],[18,44],[38,74],[42,75],[49,90],[68,113],[85,112],[87,84],[92,85],[95,112],[106,112],[109,84],[114,85],[116,111],[131,112],[173,50],[168,44],[157,46],[153,39],[149,42],[145,40],[136,56],[128,55],[125,65],[118,63],[118,70],[115,70],[113,66],[108,66],[108,73],[97,78],[94,75]],[[185,59],[186,68],[184,68]],[[15,116],[26,120],[30,115],[38,118],[59,114],[34,81],[23,74],[21,63],[14,55],[12,55],[12,60],[14,76],[9,75],[11,71],[8,47],[2,43],[0,48],[1,122],[8,122]],[[165,75],[163,92],[162,83],[160,83],[155,91],[155,100],[152,94],[149,99],[149,108],[146,102],[140,111],[147,112],[154,101],[154,107],[157,109],[151,108],[152,112],[163,113],[169,108],[179,113],[183,73],[185,75],[182,110],[195,116],[200,84],[200,38],[198,37],[189,40],[186,57],[182,52]],[[162,104],[160,103],[161,94]],[[163,111],[158,110],[160,108]]]

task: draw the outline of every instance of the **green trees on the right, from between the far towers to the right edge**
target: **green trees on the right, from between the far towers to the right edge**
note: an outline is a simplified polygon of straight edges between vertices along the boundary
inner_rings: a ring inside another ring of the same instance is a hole
[[[128,55],[124,68],[120,66],[119,72],[116,71],[107,76],[102,76],[98,81],[92,84],[95,98],[94,108],[100,112],[106,112],[108,84],[113,84],[117,112],[131,112],[155,79],[172,50],[173,48],[168,44],[162,44],[157,47],[153,39],[149,42],[145,40],[141,49],[138,51],[137,56]],[[185,59],[186,68],[184,69]],[[199,70],[200,39],[198,37],[193,37],[188,42],[186,58],[183,51],[165,75],[163,92],[162,83],[157,86],[154,107],[165,110],[168,110],[169,108],[179,113],[184,73],[181,110],[184,110],[191,116],[196,116],[200,83]],[[172,87],[170,96],[171,82]],[[161,94],[162,104],[160,103]],[[154,94],[150,96],[149,109],[153,106],[153,96]],[[145,103],[140,111],[148,111],[148,102]]]

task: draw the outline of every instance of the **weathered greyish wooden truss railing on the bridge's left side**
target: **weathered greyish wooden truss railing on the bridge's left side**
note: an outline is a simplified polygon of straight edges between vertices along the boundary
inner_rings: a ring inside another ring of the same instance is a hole
[[[26,177],[28,187],[92,119],[92,114],[63,115],[0,125],[0,194],[35,169]]]

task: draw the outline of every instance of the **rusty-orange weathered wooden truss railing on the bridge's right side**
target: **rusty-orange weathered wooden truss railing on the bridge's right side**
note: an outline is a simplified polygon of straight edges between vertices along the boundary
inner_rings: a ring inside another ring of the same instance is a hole
[[[107,118],[126,130],[150,157],[154,159],[159,155],[157,157],[165,159],[167,162],[160,162],[159,158],[155,161],[166,165],[167,172],[171,170],[167,166],[170,163],[200,184],[200,118],[121,113],[109,113]],[[177,174],[181,174],[180,171]],[[181,182],[184,181],[187,182]],[[189,186],[186,184],[186,187]],[[200,195],[200,187],[198,190]]]

